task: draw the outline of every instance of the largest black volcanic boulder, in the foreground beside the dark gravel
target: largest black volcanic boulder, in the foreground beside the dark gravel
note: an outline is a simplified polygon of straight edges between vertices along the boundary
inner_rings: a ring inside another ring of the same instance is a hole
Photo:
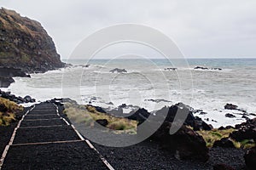
[[[162,144],[166,150],[175,153],[178,159],[208,160],[208,148],[201,135],[186,126],[182,126],[177,133],[171,135],[171,127],[172,122],[164,122],[151,138]]]

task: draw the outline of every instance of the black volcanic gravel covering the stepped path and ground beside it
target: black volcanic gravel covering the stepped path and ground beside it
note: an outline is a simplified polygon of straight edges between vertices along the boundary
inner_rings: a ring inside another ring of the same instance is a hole
[[[60,111],[60,115],[64,116]],[[35,116],[35,115],[42,116]],[[62,119],[55,119],[55,105],[37,105],[28,115],[34,118],[48,118],[49,120],[32,121],[27,116],[20,124],[14,144],[34,142],[70,141],[60,144],[13,145],[3,163],[3,169],[107,169],[95,150],[79,140],[79,136]],[[67,122],[69,122],[67,120]],[[40,127],[38,127],[40,126]],[[54,126],[54,127],[41,127]],[[37,128],[31,128],[37,127]],[[3,138],[0,139],[0,149],[9,142],[15,124],[1,127]],[[9,130],[7,130],[9,129]],[[106,147],[94,144],[115,169],[213,169],[213,165],[226,164],[235,169],[244,169],[243,155],[245,150],[212,148],[210,160],[179,161],[169,151],[160,148],[154,142],[144,141],[140,144],[125,148]]]

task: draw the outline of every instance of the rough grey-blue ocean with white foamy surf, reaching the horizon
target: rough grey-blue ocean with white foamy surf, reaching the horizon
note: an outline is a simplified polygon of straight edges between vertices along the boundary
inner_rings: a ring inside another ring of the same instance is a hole
[[[224,110],[227,103],[238,105],[248,114],[256,113],[256,59],[186,59],[186,63],[178,59],[171,62],[167,59],[67,62],[73,66],[32,74],[31,78],[15,77],[15,83],[3,90],[23,97],[31,95],[38,101],[64,97],[75,99],[79,104],[108,109],[125,104],[156,111],[165,105],[183,102],[206,112],[198,112],[196,116],[213,127],[245,122],[241,111]],[[84,66],[86,64],[90,66]],[[211,69],[195,70],[195,66]],[[167,70],[174,67],[177,70]],[[115,68],[127,72],[110,72]],[[124,112],[129,113],[133,106],[126,107]],[[236,117],[225,117],[227,113]]]

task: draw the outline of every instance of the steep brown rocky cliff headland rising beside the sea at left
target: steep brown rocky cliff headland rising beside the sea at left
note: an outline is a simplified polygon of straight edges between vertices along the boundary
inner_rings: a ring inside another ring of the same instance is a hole
[[[0,8],[0,66],[32,73],[54,70],[64,63],[38,21]]]

